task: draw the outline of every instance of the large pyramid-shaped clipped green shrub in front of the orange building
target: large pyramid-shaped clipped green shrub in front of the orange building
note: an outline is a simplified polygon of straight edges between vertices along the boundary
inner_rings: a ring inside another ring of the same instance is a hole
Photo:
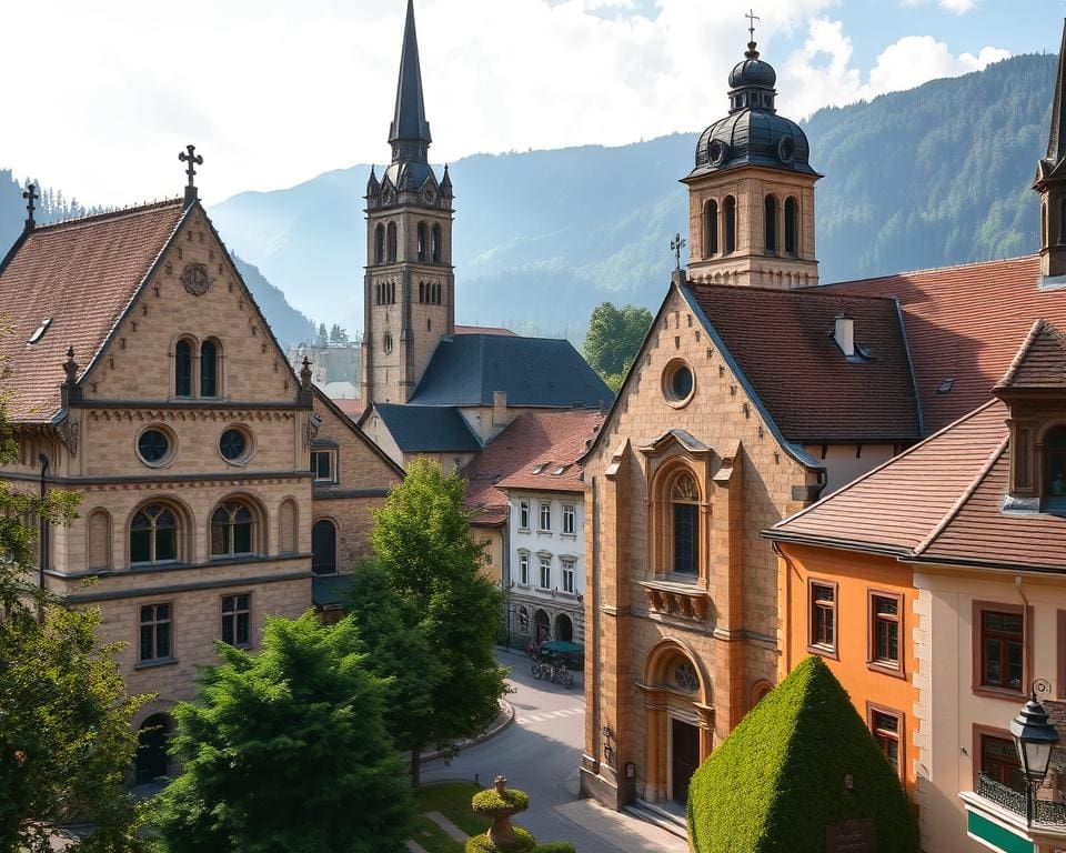
[[[801,663],[703,762],[688,787],[693,853],[824,851],[826,827],[872,819],[878,853],[916,853],[914,811],[821,658]]]

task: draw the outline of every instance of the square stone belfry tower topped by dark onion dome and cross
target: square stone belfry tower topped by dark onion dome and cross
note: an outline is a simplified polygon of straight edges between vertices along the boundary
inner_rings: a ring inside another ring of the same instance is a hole
[[[730,114],[696,143],[688,185],[688,277],[717,284],[818,283],[814,183],[803,130],[777,114],[777,74],[755,31],[730,73]]]

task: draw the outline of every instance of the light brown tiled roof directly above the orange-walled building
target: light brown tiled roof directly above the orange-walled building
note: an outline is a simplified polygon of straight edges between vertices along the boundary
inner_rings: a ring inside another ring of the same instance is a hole
[[[766,535],[906,562],[1066,571],[1066,518],[1002,509],[1007,417],[1007,407],[990,400]]]

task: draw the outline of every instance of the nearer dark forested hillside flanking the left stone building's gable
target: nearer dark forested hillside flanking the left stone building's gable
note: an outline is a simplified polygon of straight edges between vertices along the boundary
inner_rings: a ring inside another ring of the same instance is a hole
[[[3,258],[22,232],[22,225],[26,221],[26,201],[22,198],[24,183],[26,181],[19,184],[11,175],[10,169],[0,169],[0,259]],[[63,198],[61,190],[46,187],[40,190],[40,193],[41,199],[37,202],[36,219],[41,223],[71,217],[91,215],[104,210],[99,207],[86,208],[77,199],[68,201]],[[314,323],[295,311],[285,301],[285,294],[281,290],[266,281],[259,269],[235,254],[233,255],[233,262],[265,314],[270,328],[283,347],[314,340]]]

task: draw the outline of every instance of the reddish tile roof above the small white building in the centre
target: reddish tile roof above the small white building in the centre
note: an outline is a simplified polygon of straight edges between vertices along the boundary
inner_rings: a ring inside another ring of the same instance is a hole
[[[603,414],[587,409],[519,415],[463,469],[466,506],[479,512],[482,523],[502,523],[507,516],[504,489],[583,491],[577,460],[603,421]],[[563,472],[555,474],[560,468]]]

